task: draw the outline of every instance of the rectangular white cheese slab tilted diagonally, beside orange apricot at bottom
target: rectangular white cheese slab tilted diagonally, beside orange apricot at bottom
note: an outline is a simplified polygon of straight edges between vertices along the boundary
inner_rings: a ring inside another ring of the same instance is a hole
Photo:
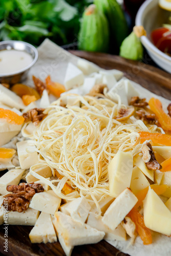
[[[126,188],[106,210],[102,222],[114,230],[136,205],[137,201],[138,199],[131,189]]]

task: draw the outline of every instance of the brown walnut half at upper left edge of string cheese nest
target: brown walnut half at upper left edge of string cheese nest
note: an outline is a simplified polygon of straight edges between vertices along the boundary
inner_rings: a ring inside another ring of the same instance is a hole
[[[23,117],[25,119],[25,122],[33,122],[34,125],[37,125],[40,121],[42,121],[42,119],[44,119],[44,117],[47,116],[47,114],[44,114],[45,109],[32,109],[29,110],[27,113],[23,113]]]

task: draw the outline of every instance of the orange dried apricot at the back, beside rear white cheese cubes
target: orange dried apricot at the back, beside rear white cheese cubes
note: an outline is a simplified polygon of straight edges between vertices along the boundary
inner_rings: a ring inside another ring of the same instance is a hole
[[[47,84],[47,89],[49,90],[49,92],[52,93],[56,97],[60,97],[60,94],[64,93],[66,91],[65,86],[63,86],[63,84],[58,83],[58,82],[52,82],[50,76],[48,76],[46,78],[46,84]]]

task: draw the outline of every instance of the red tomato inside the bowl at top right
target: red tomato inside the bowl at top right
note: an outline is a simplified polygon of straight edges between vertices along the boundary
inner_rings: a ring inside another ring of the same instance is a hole
[[[171,31],[167,28],[158,28],[151,33],[154,45],[162,52],[171,54]]]

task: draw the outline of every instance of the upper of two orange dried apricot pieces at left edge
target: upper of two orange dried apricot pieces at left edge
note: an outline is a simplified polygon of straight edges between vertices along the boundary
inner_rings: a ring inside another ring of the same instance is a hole
[[[18,125],[23,124],[25,120],[23,116],[19,116],[11,110],[4,110],[4,109],[0,109],[0,118],[6,119],[8,123],[18,124]]]

